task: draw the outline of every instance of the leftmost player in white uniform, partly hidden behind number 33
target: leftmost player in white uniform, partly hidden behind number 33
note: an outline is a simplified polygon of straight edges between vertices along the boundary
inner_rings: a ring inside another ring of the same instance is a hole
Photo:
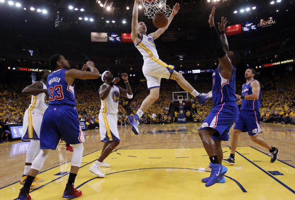
[[[26,154],[25,170],[20,181],[20,184],[25,184],[27,174],[31,169],[32,162],[34,158],[40,152],[40,128],[42,123],[42,118],[45,110],[48,108],[48,92],[46,88],[46,80],[50,72],[48,70],[43,70],[39,72],[40,81],[34,82],[32,85],[27,86],[23,89],[23,95],[32,95],[31,104],[26,110],[24,115],[23,129],[22,129],[22,141],[30,142],[29,149]],[[38,182],[42,182],[43,179],[34,179],[30,189],[34,189],[39,186]]]

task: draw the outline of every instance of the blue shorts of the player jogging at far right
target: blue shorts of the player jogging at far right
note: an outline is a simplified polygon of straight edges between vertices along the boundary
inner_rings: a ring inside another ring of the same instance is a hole
[[[247,132],[251,136],[263,133],[260,125],[260,112],[240,110],[234,129]]]

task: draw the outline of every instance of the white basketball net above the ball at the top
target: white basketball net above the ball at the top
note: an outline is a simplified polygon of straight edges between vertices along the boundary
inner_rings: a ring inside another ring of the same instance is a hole
[[[166,0],[140,0],[144,6],[144,14],[148,18],[154,18],[156,13],[165,13],[169,17],[172,9],[166,5]]]

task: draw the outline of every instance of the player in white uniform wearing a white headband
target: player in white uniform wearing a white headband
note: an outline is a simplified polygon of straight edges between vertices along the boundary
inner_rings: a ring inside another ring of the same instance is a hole
[[[128,82],[128,74],[121,74],[123,81],[126,84],[126,89],[123,89],[116,84],[120,81],[119,77],[114,76],[109,72],[105,71],[101,75],[101,80],[104,82],[99,88],[99,98],[101,101],[101,108],[99,117],[99,132],[100,141],[105,142],[104,147],[101,151],[100,157],[97,161],[89,167],[89,172],[97,175],[98,177],[104,178],[104,174],[100,171],[100,167],[110,167],[104,159],[120,144],[120,138],[117,128],[118,123],[118,104],[119,96],[131,99],[133,97],[131,87]]]

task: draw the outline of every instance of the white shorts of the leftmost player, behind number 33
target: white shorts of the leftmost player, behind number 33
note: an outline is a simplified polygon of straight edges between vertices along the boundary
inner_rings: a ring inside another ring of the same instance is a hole
[[[41,113],[26,110],[22,124],[22,141],[39,140],[42,119],[43,115]]]

